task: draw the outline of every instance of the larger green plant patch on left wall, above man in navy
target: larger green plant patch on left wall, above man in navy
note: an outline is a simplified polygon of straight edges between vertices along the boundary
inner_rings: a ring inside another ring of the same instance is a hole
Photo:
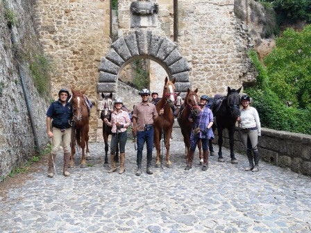
[[[33,81],[37,91],[40,94],[49,93],[49,74],[51,71],[51,64],[44,55],[36,54],[31,64],[29,65],[31,74],[33,74]]]

